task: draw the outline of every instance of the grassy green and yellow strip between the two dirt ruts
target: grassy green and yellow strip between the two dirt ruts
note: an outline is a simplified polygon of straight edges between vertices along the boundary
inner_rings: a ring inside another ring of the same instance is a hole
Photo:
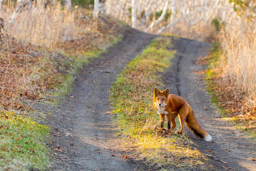
[[[159,116],[152,105],[153,88],[163,87],[159,72],[170,66],[171,38],[160,36],[128,63],[112,86],[111,104],[124,146],[159,168],[204,168],[206,158],[186,137],[157,129]],[[169,166],[168,166],[169,165]]]

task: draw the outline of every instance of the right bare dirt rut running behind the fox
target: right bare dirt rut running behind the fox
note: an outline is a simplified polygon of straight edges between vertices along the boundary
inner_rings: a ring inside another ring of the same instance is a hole
[[[234,125],[222,120],[216,107],[209,100],[204,75],[197,74],[205,66],[195,64],[197,58],[204,57],[210,44],[196,40],[174,38],[173,49],[177,51],[172,66],[162,75],[170,93],[184,97],[193,108],[200,125],[213,137],[212,142],[198,139],[186,129],[198,150],[209,158],[216,170],[256,170],[256,145],[243,137]]]

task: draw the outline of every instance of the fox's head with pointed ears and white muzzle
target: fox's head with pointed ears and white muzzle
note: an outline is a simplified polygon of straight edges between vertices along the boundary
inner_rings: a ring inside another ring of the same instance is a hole
[[[169,89],[160,91],[159,89],[155,88],[153,102],[155,103],[156,107],[165,106],[167,103],[168,95],[169,95]]]

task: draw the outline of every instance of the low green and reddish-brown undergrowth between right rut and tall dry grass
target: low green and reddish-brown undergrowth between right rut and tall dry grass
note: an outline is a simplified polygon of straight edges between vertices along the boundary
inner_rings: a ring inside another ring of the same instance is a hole
[[[213,95],[213,102],[221,108],[220,112],[228,117],[228,120],[235,121],[239,128],[256,131],[256,108],[255,104],[249,103],[250,92],[239,87],[235,76],[232,78],[226,67],[227,58],[221,48],[216,46],[210,58],[202,59],[201,64],[208,64],[209,70],[206,72],[208,88]],[[236,70],[237,68],[232,68]],[[245,73],[246,75],[246,73]],[[251,132],[253,133],[253,132]],[[251,134],[250,136],[253,136]],[[254,135],[255,137],[255,135]]]

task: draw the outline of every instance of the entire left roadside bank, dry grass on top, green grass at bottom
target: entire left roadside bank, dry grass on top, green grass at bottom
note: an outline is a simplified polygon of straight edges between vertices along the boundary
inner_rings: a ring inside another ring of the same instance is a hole
[[[121,40],[125,26],[104,16],[94,20],[91,10],[68,11],[60,2],[15,11],[11,1],[2,12],[0,170],[44,170],[51,162],[50,128],[38,123],[32,104],[55,103],[69,92],[73,75]]]

